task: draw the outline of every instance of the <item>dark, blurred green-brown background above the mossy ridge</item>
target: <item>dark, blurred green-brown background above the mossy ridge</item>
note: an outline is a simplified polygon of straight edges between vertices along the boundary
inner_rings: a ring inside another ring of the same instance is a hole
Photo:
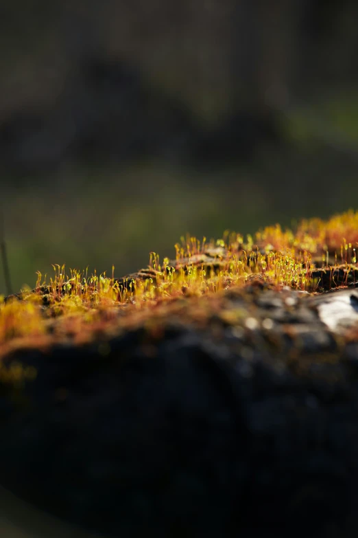
[[[2,0],[14,291],[356,209],[357,23],[355,0]]]

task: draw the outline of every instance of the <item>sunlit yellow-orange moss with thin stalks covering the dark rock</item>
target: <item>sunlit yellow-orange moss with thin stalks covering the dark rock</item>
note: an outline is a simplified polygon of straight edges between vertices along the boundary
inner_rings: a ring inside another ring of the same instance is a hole
[[[149,327],[156,312],[169,316],[188,304],[203,317],[204,298],[219,302],[226,290],[244,292],[255,282],[313,294],[355,287],[357,249],[358,212],[350,210],[328,221],[302,221],[295,230],[277,224],[246,238],[236,232],[216,241],[182,237],[174,259],[151,252],[146,269],[123,278],[115,278],[114,266],[107,276],[53,265],[49,278],[38,272],[34,289],[1,297],[0,357],[19,347],[46,348],[66,339],[81,344],[139,322]],[[239,311],[225,315],[239,322]],[[106,344],[100,349],[107,354]],[[0,368],[0,377],[6,376],[20,380],[34,372]]]

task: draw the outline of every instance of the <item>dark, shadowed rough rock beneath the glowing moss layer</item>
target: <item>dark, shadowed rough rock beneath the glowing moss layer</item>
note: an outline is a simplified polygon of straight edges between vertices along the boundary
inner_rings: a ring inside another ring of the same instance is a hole
[[[0,385],[2,485],[112,537],[357,536],[357,296],[252,285],[13,352],[38,377]]]

